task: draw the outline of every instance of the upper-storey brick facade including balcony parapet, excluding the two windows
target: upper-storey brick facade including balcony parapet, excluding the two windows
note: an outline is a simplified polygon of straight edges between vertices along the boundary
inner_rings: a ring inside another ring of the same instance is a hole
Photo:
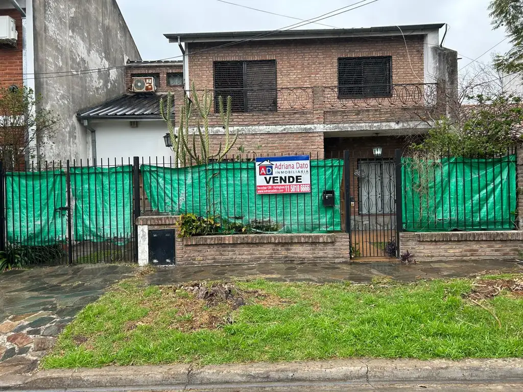
[[[423,106],[423,88],[420,94],[398,91],[391,99],[339,100],[335,87],[338,57],[352,56],[392,56],[393,84],[423,83],[423,36],[406,37],[406,44],[408,54],[398,37],[256,41],[215,50],[208,50],[215,43],[191,43],[189,53],[206,51],[189,56],[189,78],[198,90],[212,90],[214,61],[276,60],[278,111],[234,113],[234,125],[415,120],[413,106],[418,112]],[[218,116],[211,115],[210,123],[218,124]]]

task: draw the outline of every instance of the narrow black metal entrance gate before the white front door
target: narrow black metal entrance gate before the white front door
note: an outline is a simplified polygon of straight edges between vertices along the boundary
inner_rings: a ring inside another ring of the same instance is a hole
[[[354,258],[397,256],[396,227],[401,225],[396,215],[397,158],[380,150],[344,154],[343,211]],[[401,159],[401,151],[397,153]]]

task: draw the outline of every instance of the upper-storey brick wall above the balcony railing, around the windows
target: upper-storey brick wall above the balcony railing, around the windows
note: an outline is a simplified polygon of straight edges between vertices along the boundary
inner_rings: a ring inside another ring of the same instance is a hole
[[[403,39],[397,37],[238,43],[190,55],[189,78],[197,89],[212,89],[214,61],[276,59],[278,87],[337,86],[338,57],[392,56],[393,84],[423,83],[423,36],[405,38],[410,62]],[[191,43],[189,53],[214,46]]]

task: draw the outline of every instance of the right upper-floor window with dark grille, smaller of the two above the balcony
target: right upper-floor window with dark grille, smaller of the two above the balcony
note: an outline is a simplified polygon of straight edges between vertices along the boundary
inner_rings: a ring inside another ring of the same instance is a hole
[[[392,57],[339,57],[338,98],[390,97]]]

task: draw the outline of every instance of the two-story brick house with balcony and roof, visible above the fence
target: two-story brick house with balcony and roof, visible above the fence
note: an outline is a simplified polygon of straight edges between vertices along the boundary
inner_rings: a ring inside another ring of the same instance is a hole
[[[194,82],[233,96],[232,124],[246,150],[323,155],[347,143],[367,148],[376,136],[419,133],[426,109],[444,112],[441,98],[456,88],[457,52],[440,47],[442,26],[166,37],[184,43],[186,90]]]

